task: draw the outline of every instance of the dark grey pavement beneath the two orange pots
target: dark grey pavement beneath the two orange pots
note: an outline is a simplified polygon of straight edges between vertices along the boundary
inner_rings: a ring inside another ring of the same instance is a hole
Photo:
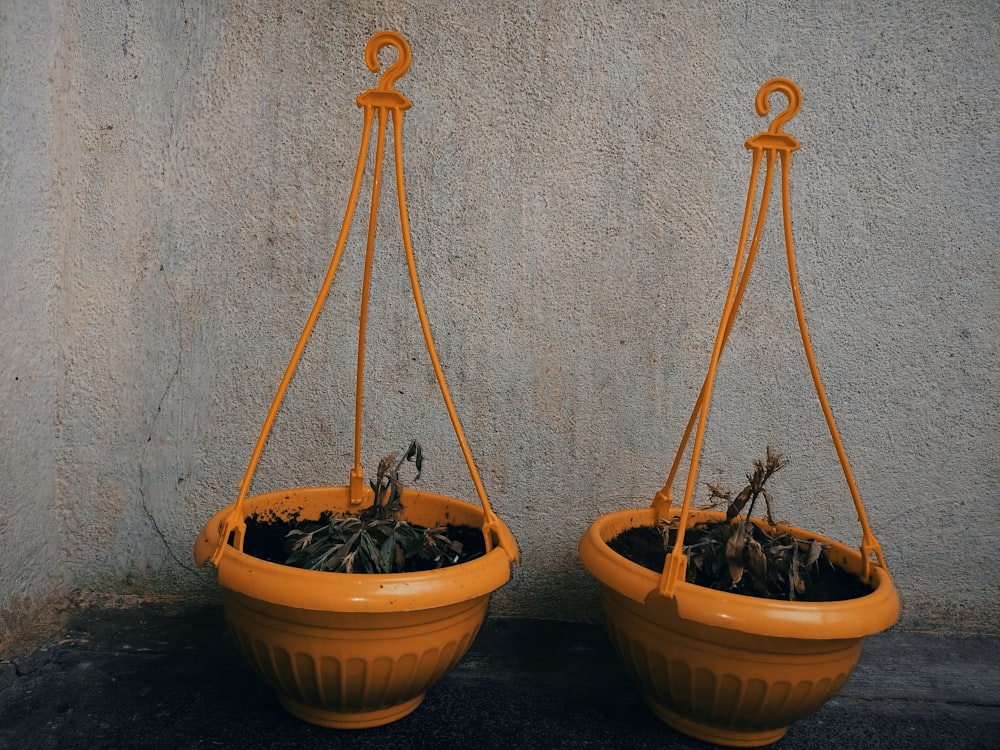
[[[286,713],[218,606],[86,608],[0,661],[0,748],[710,748],[645,708],[600,625],[488,619],[413,714],[332,730]],[[889,632],[773,745],[1000,747],[1000,638]]]

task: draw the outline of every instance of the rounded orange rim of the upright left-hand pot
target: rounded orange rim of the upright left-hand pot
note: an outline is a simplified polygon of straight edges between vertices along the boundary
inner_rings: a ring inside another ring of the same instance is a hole
[[[307,487],[278,490],[246,498],[245,512],[268,506],[288,506],[290,498],[346,499],[347,487]],[[483,524],[483,510],[457,498],[431,492],[407,491],[408,504],[419,504],[429,515],[470,526]],[[195,544],[195,559],[203,564],[216,547],[218,529],[236,504],[222,508],[205,524]],[[338,510],[337,508],[331,508]],[[455,520],[458,516],[458,520]],[[424,521],[421,521],[423,523]],[[510,536],[497,519],[501,538]],[[510,536],[513,539],[512,536]],[[486,596],[510,580],[511,559],[496,546],[484,556],[447,568],[412,573],[332,573],[306,570],[253,557],[226,544],[218,564],[219,584],[254,599],[279,606],[324,612],[400,612],[448,606]]]

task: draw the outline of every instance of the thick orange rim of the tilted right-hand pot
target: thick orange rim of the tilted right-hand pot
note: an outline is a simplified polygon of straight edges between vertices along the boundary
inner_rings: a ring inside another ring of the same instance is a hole
[[[721,511],[692,510],[691,523],[725,518]],[[656,523],[654,508],[626,509],[597,518],[580,540],[584,566],[604,586],[639,604],[664,604],[661,574],[638,565],[611,549],[607,542],[621,532]],[[783,526],[829,544],[835,562],[860,571],[861,553],[807,529]],[[873,565],[872,593],[832,602],[790,602],[734,594],[679,581],[673,597],[678,615],[703,625],[764,636],[802,639],[858,638],[891,627],[899,618],[899,594],[888,571]]]

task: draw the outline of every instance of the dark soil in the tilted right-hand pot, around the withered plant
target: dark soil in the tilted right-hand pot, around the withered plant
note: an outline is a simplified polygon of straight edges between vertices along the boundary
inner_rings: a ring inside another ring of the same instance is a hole
[[[719,525],[716,523],[698,524],[689,529],[685,533],[685,547],[687,542],[694,540],[699,530],[704,532]],[[673,549],[675,537],[676,530],[670,529],[669,538],[664,542],[664,536],[659,529],[652,526],[639,526],[622,532],[609,541],[608,546],[637,565],[660,573],[663,571],[668,550]],[[689,560],[687,581],[719,591],[732,591],[747,596],[763,597],[762,594],[755,593],[748,586],[734,586],[727,570],[724,557],[721,564],[716,566],[699,567],[691,564]],[[805,583],[806,589],[796,594],[796,601],[829,602],[857,599],[873,591],[871,586],[854,574],[833,565],[825,553],[814,565],[810,566]],[[789,597],[787,595],[769,595],[765,598],[787,600]]]

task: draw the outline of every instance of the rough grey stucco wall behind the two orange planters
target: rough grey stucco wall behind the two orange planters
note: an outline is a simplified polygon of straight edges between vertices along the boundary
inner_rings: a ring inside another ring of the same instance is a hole
[[[576,542],[666,478],[736,251],[743,142],[767,125],[753,99],[781,75],[804,93],[786,129],[806,313],[901,625],[1000,632],[985,0],[3,2],[5,623],[72,589],[214,591],[191,545],[235,497],[318,290],[383,28],[413,49],[398,87],[439,354],[522,545],[495,615],[598,616]],[[418,437],[422,486],[470,496],[383,209],[365,463]],[[365,216],[255,490],[346,480]],[[735,485],[771,444],[792,461],[779,515],[853,544],[779,226],[699,476]]]

